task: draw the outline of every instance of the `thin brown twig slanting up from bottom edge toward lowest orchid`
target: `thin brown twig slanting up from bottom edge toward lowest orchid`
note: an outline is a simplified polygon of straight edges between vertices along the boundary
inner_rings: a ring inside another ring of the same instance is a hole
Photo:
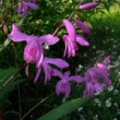
[[[23,120],[24,118],[26,118],[27,115],[29,115],[35,108],[37,108],[40,104],[43,104],[44,101],[46,101],[48,98],[50,98],[52,95],[55,94],[55,92],[52,94],[50,94],[49,96],[45,97],[43,100],[40,100],[39,103],[37,103],[33,108],[31,108],[20,120]]]

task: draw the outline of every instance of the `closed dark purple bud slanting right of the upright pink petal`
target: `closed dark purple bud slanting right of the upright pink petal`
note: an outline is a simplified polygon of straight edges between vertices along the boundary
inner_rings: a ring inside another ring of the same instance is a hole
[[[75,20],[75,23],[84,33],[91,34],[89,28],[82,21]]]

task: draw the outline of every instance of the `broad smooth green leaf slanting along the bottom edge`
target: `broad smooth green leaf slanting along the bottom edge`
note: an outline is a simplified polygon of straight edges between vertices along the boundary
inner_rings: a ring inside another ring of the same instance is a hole
[[[43,117],[38,118],[37,120],[58,120],[59,118],[72,112],[73,110],[77,109],[84,103],[86,103],[86,98],[76,98],[71,101],[68,101],[53,110],[49,111],[48,113],[44,115]]]

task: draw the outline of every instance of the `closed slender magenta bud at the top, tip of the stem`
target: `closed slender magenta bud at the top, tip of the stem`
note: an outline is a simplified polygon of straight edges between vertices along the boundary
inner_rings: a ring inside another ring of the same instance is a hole
[[[98,2],[88,2],[88,3],[80,5],[80,9],[81,10],[87,10],[87,9],[96,8],[97,5],[99,5]]]

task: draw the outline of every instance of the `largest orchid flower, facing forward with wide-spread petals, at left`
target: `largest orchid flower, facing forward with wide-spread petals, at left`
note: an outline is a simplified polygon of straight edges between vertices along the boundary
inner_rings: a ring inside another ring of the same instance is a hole
[[[8,35],[10,39],[13,41],[26,41],[27,45],[24,49],[24,60],[27,63],[35,63],[38,68],[44,59],[44,48],[43,43],[47,43],[48,45],[55,45],[59,38],[53,35],[43,35],[40,37],[38,36],[31,36],[23,34],[19,27],[13,24],[12,25],[12,32]]]

